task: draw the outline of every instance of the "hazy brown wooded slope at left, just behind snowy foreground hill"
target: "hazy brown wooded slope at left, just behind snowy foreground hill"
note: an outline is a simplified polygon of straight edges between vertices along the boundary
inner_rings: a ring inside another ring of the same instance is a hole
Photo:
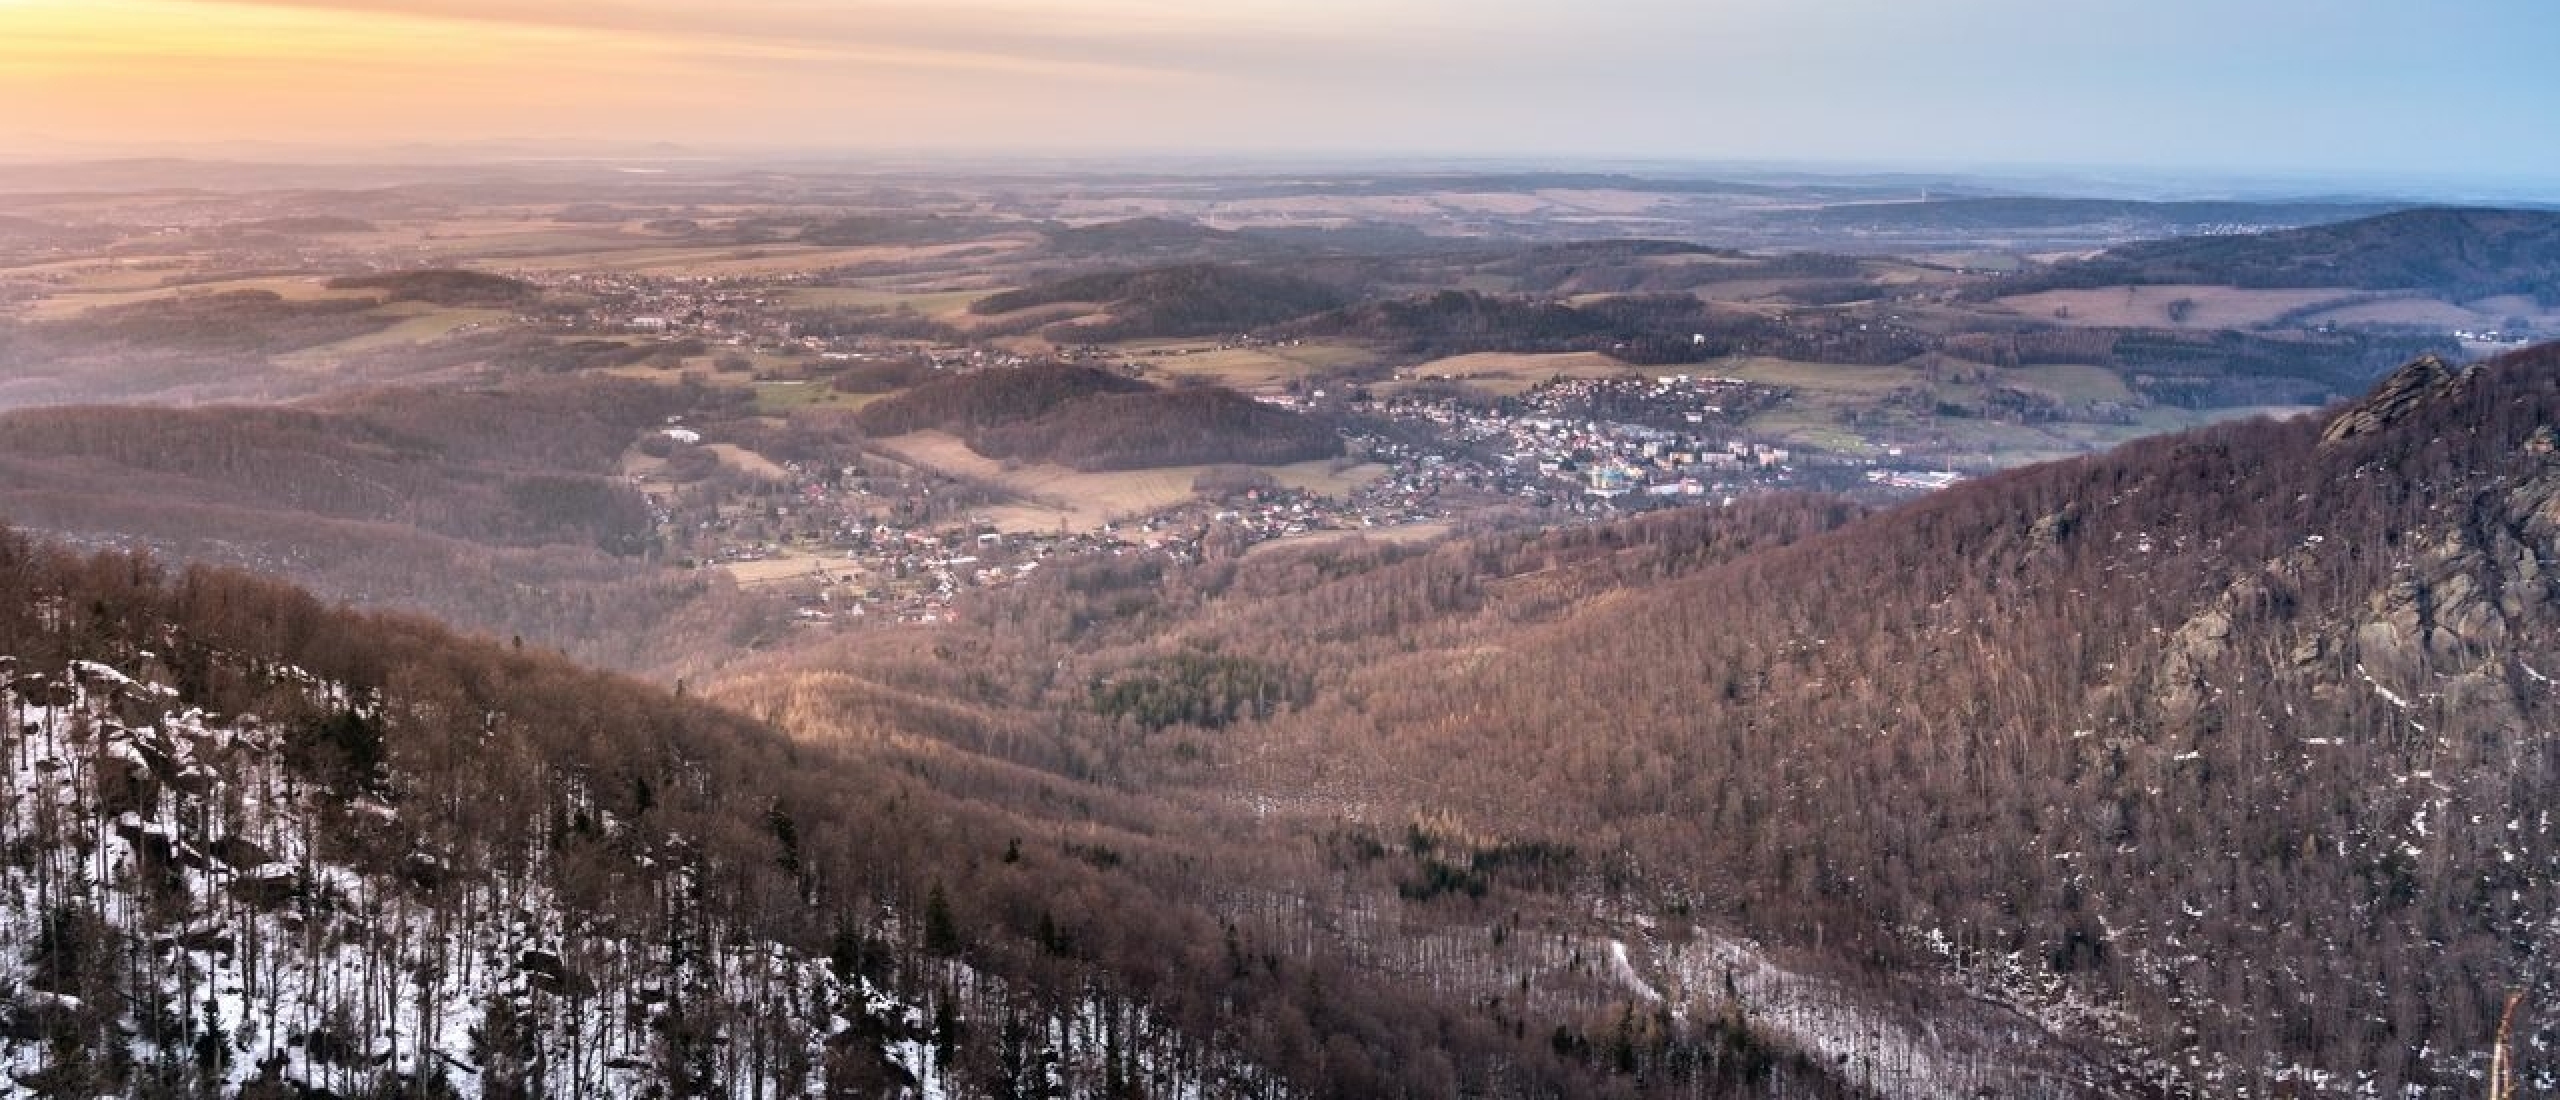
[[[384,389],[305,407],[0,412],[0,522],[287,573],[330,599],[435,614],[612,668],[753,629],[717,578],[650,563],[653,507],[622,453],[668,386],[532,379]]]

